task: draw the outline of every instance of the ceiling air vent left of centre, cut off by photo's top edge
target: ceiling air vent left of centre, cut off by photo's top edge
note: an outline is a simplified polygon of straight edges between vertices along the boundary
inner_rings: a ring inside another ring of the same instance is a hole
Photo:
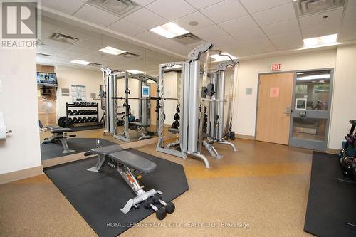
[[[120,17],[127,16],[141,7],[131,0],[89,0],[88,3]]]

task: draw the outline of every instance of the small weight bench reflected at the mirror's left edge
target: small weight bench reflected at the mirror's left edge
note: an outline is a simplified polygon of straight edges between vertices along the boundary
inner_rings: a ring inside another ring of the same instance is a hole
[[[73,132],[72,129],[68,127],[59,127],[57,125],[53,126],[46,126],[47,129],[52,133],[52,137],[50,138],[45,138],[41,144],[48,144],[48,143],[54,143],[57,140],[60,140],[63,146],[63,154],[70,153],[70,152],[75,152],[73,149],[69,149],[68,144],[67,144],[67,138],[70,137],[76,137],[77,135],[72,134],[68,135],[67,132]]]

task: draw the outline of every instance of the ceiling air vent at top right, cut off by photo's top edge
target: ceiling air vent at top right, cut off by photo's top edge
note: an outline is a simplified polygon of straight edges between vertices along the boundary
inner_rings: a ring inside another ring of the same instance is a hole
[[[293,4],[298,16],[303,16],[344,6],[345,0],[297,0]]]

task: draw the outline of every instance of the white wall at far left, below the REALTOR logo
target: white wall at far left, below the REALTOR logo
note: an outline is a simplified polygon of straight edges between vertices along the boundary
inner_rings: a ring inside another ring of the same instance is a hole
[[[0,174],[41,166],[34,49],[0,50],[0,111],[13,131],[0,141]]]

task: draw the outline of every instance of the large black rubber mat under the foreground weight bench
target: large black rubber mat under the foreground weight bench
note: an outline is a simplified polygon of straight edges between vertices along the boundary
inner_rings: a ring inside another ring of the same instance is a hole
[[[135,149],[127,150],[157,164],[155,172],[143,175],[140,181],[146,191],[162,191],[162,199],[172,201],[189,189],[182,165]],[[88,172],[86,169],[96,162],[97,158],[83,159],[49,167],[44,172],[99,236],[117,236],[153,211],[141,205],[140,209],[132,208],[123,214],[120,209],[135,196],[134,192],[116,169],[105,167],[101,173]]]

